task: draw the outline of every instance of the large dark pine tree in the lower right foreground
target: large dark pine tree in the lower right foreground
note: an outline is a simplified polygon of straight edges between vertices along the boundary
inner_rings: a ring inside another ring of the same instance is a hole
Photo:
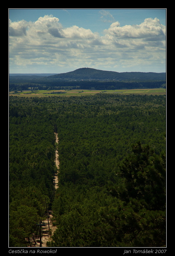
[[[165,246],[166,157],[140,142],[132,149],[119,166],[118,182],[109,188],[121,203],[111,214],[103,212],[106,230],[119,237],[119,246]]]

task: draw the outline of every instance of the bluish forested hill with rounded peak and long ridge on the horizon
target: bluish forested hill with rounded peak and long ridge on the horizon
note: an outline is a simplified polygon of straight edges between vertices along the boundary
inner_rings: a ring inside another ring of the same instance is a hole
[[[92,80],[166,80],[166,73],[154,72],[115,72],[94,68],[79,68],[71,72],[47,76],[60,79],[92,79]]]

